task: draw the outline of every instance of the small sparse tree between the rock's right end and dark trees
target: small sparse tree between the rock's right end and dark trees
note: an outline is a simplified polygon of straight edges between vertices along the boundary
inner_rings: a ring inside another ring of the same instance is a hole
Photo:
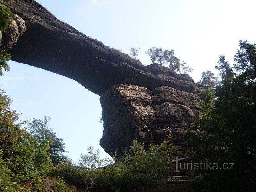
[[[211,90],[214,91],[219,84],[219,77],[214,76],[214,73],[211,71],[204,71],[198,83],[204,85],[204,87],[210,87]]]

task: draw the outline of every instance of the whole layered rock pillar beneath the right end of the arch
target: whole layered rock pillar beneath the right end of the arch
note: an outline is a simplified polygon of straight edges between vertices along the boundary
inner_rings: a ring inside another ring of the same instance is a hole
[[[200,106],[198,95],[161,86],[153,90],[131,84],[116,84],[100,97],[104,131],[100,146],[123,155],[133,140],[146,145],[159,143],[168,134],[182,146],[181,137]]]

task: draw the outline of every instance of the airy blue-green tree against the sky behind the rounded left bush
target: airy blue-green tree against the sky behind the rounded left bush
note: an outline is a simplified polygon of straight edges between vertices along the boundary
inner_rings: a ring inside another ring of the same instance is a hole
[[[62,153],[67,152],[65,150],[65,143],[63,139],[57,137],[57,133],[52,132],[52,129],[49,129],[48,122],[50,118],[44,116],[43,120],[30,119],[26,120],[28,125],[29,132],[39,141],[40,145],[49,145],[49,157],[53,165],[57,165],[60,162],[64,162],[67,156],[64,156]]]

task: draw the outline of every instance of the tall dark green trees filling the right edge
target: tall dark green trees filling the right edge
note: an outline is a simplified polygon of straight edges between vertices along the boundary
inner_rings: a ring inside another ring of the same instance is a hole
[[[204,104],[188,132],[198,158],[209,162],[234,163],[235,170],[206,171],[216,190],[248,190],[256,178],[256,44],[240,41],[233,68],[220,55],[216,69],[222,77],[214,94],[201,93]],[[234,71],[236,70],[236,73]],[[197,131],[200,129],[201,131]],[[212,185],[213,186],[213,185]]]

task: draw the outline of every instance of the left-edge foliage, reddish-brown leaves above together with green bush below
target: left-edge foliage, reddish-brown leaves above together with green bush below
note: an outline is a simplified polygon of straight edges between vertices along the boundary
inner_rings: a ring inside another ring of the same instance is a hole
[[[0,93],[0,150],[4,166],[12,172],[12,181],[33,182],[50,171],[48,145],[38,145],[38,140],[15,124],[19,114],[9,108],[12,100]],[[2,164],[3,165],[3,164]],[[6,169],[6,170],[7,170]],[[7,174],[8,175],[8,174]]]

